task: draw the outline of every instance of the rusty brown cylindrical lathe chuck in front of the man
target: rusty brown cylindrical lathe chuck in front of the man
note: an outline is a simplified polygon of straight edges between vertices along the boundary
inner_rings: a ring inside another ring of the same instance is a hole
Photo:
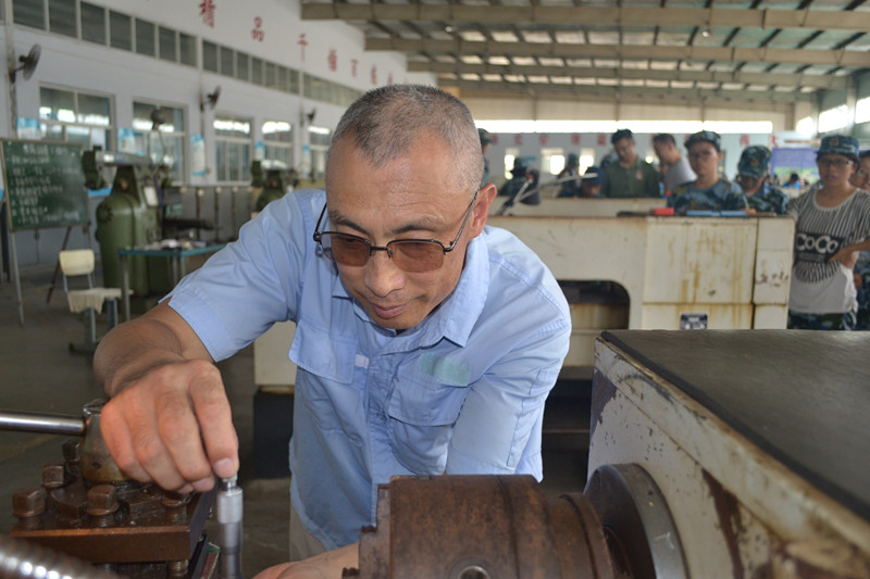
[[[611,579],[601,526],[581,494],[547,499],[530,476],[396,477],[378,490],[358,575]]]

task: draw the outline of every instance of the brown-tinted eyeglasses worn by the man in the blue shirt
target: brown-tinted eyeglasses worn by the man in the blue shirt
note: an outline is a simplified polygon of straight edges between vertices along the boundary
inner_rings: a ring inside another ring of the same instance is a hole
[[[393,263],[406,272],[433,272],[439,269],[444,265],[444,256],[456,249],[462,231],[465,230],[465,224],[471,216],[471,210],[474,209],[474,201],[477,200],[478,192],[474,191],[474,197],[471,198],[469,209],[465,211],[465,218],[462,219],[462,227],[459,228],[459,232],[448,247],[444,247],[444,243],[435,239],[394,239],[381,247],[373,246],[364,237],[338,231],[320,231],[320,224],[326,214],[325,203],[323,211],[320,212],[318,225],[314,227],[314,241],[320,243],[323,254],[330,261],[341,265],[359,267],[365,265],[375,251],[386,251]]]

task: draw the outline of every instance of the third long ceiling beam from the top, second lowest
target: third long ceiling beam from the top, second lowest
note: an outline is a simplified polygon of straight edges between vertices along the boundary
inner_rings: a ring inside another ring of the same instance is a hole
[[[515,64],[463,64],[450,62],[409,62],[410,73],[462,74],[522,74],[538,76],[572,76],[575,78],[627,78],[641,80],[683,80],[693,83],[742,83],[747,85],[774,85],[811,87],[821,89],[846,88],[845,76],[809,74],[771,74],[724,71],[656,71],[612,68],[598,66],[520,66]]]

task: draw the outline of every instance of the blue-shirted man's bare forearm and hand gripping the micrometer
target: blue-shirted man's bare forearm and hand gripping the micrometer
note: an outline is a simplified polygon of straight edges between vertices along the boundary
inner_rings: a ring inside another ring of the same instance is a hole
[[[209,352],[166,303],[107,335],[94,357],[111,397],[100,416],[124,473],[164,489],[213,487],[238,470],[229,402]]]

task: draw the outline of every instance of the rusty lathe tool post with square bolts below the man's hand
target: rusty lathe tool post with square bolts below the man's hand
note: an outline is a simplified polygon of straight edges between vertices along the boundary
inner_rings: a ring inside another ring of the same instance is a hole
[[[64,442],[64,461],[42,468],[40,486],[14,493],[9,534],[127,577],[190,576],[207,556],[213,491],[181,495],[126,479],[100,435],[100,408],[86,406],[84,440]]]

